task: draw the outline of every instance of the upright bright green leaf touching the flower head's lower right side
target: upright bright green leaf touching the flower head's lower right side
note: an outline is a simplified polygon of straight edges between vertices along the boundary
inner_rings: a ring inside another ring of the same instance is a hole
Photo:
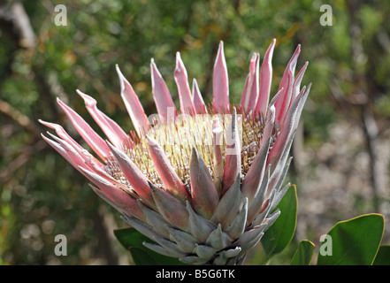
[[[285,249],[293,239],[297,206],[296,187],[293,185],[287,189],[286,195],[275,208],[275,210],[280,210],[279,218],[264,233],[261,240],[267,259]]]

